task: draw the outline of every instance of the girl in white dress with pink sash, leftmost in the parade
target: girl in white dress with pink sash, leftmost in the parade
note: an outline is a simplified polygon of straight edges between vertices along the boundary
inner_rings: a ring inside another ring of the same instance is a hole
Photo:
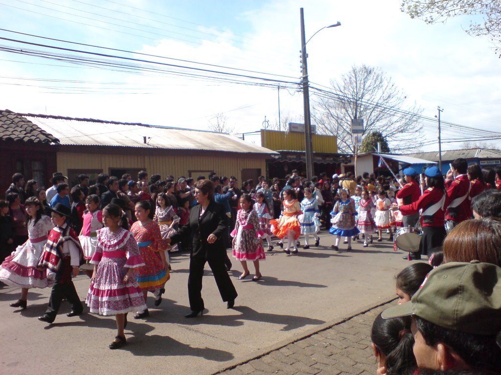
[[[17,302],[11,303],[11,306],[22,309],[27,306],[28,289],[49,285],[46,273],[37,269],[37,263],[47,242],[47,233],[54,227],[49,216],[43,214],[44,207],[38,198],[28,198],[25,208],[28,213],[28,240],[0,265],[0,281],[21,287],[21,297]]]

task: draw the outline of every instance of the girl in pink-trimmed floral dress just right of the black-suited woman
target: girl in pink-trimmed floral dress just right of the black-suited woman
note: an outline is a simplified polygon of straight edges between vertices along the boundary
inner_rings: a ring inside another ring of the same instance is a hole
[[[258,213],[253,209],[253,199],[250,194],[242,194],[240,207],[236,214],[235,228],[231,231],[233,256],[240,260],[243,268],[243,273],[238,279],[244,279],[250,273],[247,267],[247,260],[250,260],[256,268],[253,280],[258,281],[262,277],[259,261],[266,259],[262,239],[265,233],[260,229]]]

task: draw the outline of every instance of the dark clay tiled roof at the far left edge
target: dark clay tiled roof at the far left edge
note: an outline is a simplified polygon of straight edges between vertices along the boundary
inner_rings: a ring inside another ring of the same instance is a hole
[[[9,109],[0,111],[0,140],[26,143],[59,142],[55,136]]]

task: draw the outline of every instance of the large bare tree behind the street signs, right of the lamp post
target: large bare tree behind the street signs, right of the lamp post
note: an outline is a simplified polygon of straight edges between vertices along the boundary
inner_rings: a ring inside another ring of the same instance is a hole
[[[364,134],[379,131],[393,151],[421,147],[422,109],[405,106],[406,96],[380,68],[353,66],[330,91],[313,89],[312,117],[319,130],[338,138],[340,152],[353,152],[352,119],[364,120]]]

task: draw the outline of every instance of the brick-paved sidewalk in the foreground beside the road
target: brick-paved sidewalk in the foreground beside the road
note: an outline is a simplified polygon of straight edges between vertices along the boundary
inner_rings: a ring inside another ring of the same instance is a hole
[[[217,372],[225,375],[373,375],[376,358],[370,329],[377,314],[393,301],[285,344],[260,357]]]

